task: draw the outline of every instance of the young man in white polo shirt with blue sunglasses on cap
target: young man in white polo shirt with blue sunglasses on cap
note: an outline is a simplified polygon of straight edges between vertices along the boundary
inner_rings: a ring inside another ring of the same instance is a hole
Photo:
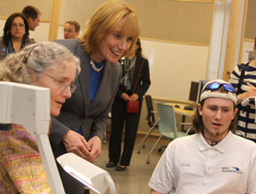
[[[207,83],[193,120],[197,133],[167,146],[148,183],[150,193],[256,193],[256,144],[233,134],[236,111],[230,83]]]

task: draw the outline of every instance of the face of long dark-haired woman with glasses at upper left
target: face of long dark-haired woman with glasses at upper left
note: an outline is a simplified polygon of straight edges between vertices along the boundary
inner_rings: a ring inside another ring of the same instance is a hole
[[[20,16],[15,17],[10,28],[10,33],[12,37],[22,38],[25,34],[25,31],[26,27],[24,20]]]

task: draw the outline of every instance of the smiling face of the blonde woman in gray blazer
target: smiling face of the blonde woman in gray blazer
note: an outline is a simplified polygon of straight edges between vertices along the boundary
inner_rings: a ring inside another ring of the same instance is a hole
[[[133,37],[130,31],[121,31],[123,23],[124,19],[119,20],[114,31],[99,43],[99,50],[96,54],[98,62],[108,60],[111,63],[115,63],[131,47]]]

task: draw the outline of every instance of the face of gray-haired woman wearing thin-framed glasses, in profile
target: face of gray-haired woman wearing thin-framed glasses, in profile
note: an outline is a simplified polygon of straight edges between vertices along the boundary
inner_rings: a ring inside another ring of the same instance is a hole
[[[76,66],[73,61],[66,61],[64,66],[56,66],[41,73],[37,85],[50,89],[50,115],[58,116],[62,104],[71,97],[70,85],[74,82]]]

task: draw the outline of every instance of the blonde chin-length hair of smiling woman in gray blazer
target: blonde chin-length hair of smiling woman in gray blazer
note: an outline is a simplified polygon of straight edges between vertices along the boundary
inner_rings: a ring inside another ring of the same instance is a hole
[[[124,19],[124,24],[121,27],[121,31],[131,32],[131,36],[133,37],[131,43],[132,48],[140,33],[136,10],[120,0],[109,0],[102,3],[87,22],[84,35],[80,37],[80,43],[84,46],[84,51],[88,54],[96,53],[102,39],[114,31],[115,26],[122,19]],[[125,51],[124,55],[130,53],[131,48]]]

